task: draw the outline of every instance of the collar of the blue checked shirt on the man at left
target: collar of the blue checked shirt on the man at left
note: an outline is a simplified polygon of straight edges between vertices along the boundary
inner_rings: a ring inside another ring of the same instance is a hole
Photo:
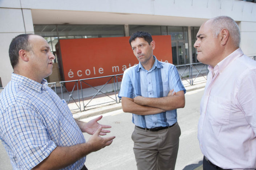
[[[28,77],[17,75],[15,73],[12,73],[12,80],[17,81],[20,84],[23,84],[25,86],[28,86],[29,88],[36,90],[37,92],[40,92],[40,93],[41,93],[42,89],[45,89],[45,87],[48,86],[48,82],[45,79],[42,79],[41,84],[40,84],[34,80],[31,80]]]

